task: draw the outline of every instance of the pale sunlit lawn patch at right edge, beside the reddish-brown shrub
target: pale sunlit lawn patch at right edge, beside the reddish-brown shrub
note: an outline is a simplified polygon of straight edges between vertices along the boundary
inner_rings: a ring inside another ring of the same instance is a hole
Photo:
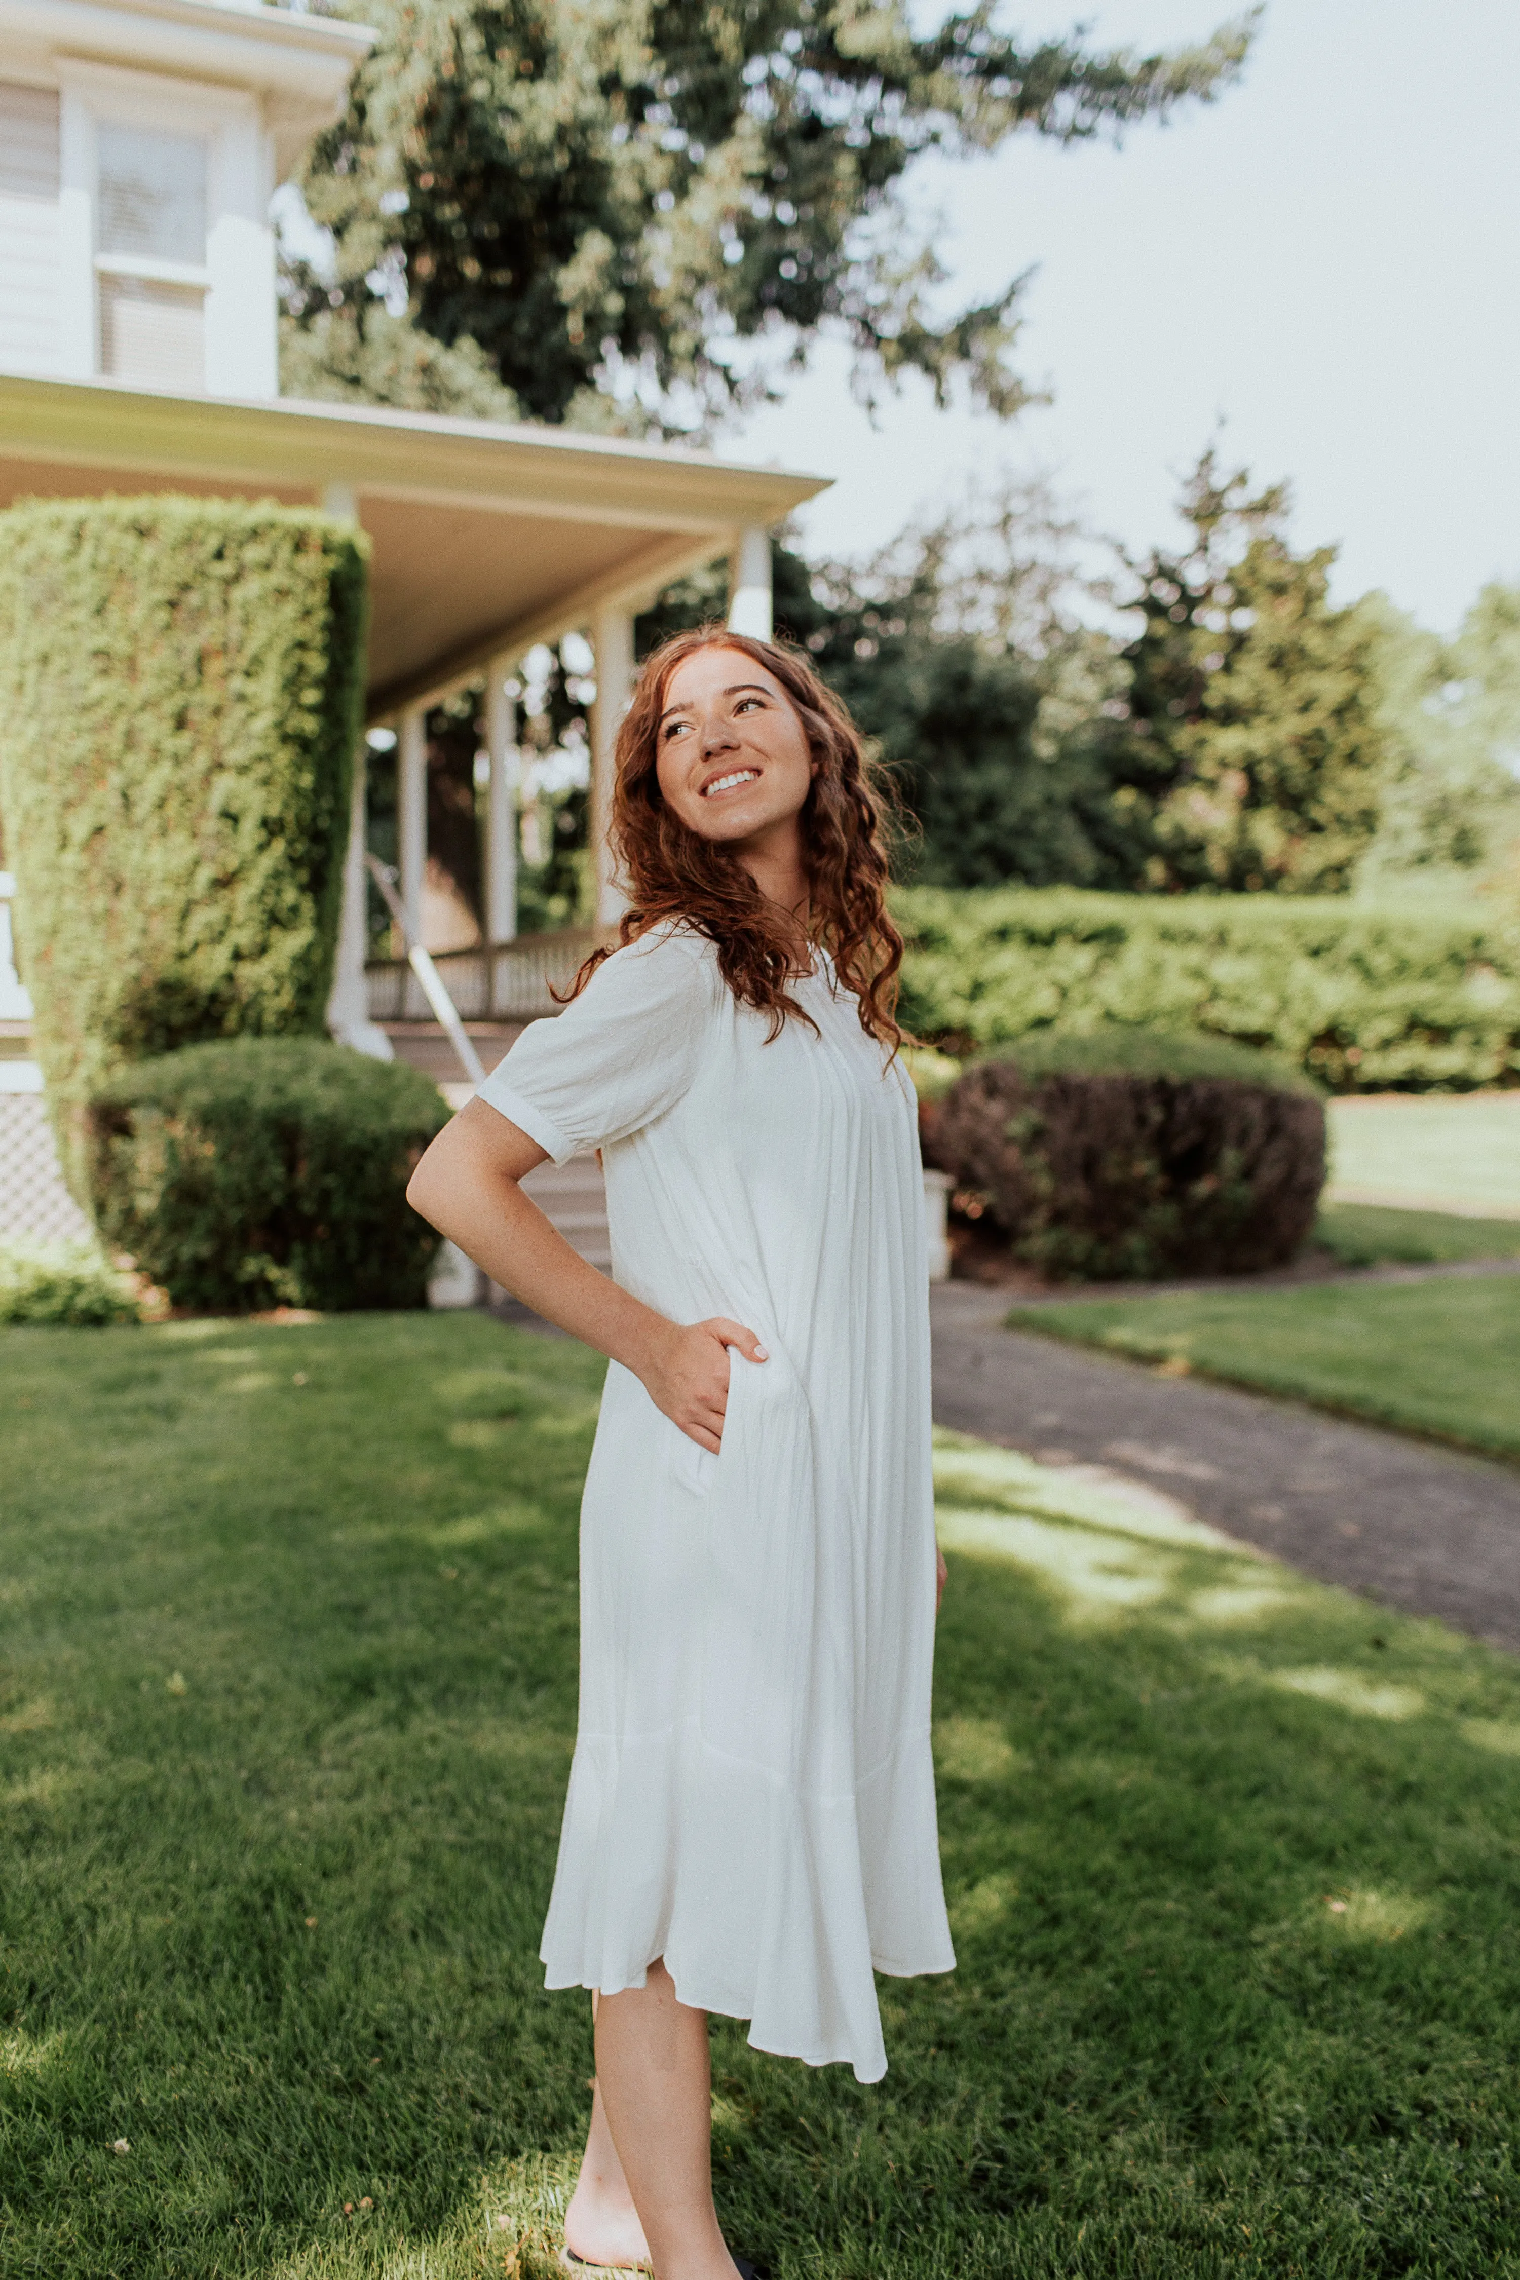
[[[1331,1197],[1520,1220],[1520,1092],[1326,1104]]]

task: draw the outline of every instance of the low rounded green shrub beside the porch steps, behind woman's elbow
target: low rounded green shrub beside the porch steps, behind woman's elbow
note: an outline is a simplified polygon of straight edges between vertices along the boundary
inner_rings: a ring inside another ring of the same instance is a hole
[[[314,1037],[191,1044],[91,1108],[91,1202],[175,1306],[422,1306],[438,1236],[406,1202],[435,1085]]]

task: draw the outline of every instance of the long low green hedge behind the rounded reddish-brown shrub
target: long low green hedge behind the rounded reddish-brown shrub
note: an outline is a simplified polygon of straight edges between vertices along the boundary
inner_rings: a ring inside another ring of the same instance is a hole
[[[1333,1092],[1520,1083],[1520,923],[1331,896],[900,889],[902,1015],[973,1053],[1030,1031],[1187,1028]]]

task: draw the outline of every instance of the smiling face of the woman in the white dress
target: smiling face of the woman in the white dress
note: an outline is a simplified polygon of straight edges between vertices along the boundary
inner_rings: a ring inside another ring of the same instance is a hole
[[[656,775],[681,823],[736,853],[795,837],[816,773],[791,698],[745,650],[693,650],[665,682]]]

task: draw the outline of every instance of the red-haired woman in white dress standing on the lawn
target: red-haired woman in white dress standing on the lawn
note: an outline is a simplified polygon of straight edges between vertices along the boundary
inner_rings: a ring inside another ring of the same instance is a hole
[[[923,1183],[880,814],[807,661],[711,627],[656,650],[618,734],[611,837],[622,946],[520,1037],[408,1192],[611,1357],[542,1940],[547,1984],[595,2004],[565,2246],[734,2280],[706,2013],[875,2082],[873,1968],[955,1963]],[[517,1186],[593,1147],[611,1281]]]

